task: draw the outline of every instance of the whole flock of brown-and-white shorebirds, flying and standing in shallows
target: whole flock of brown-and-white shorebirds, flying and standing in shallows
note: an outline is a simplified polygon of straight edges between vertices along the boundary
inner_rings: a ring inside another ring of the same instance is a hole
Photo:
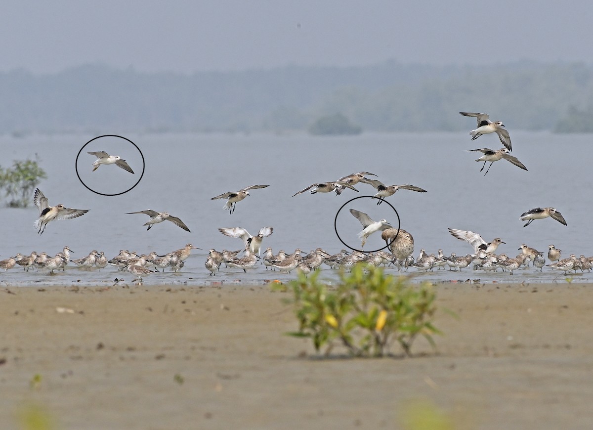
[[[504,148],[501,148],[497,151],[489,148],[470,150],[482,152],[484,154],[482,157],[476,160],[479,162],[484,162],[480,171],[483,171],[486,167],[486,163],[490,162],[490,165],[486,169],[486,173],[484,173],[484,175],[488,173],[490,167],[492,167],[492,164],[499,160],[507,160],[512,164],[527,170],[525,165],[523,165],[517,159],[517,157],[514,157],[508,153],[512,150],[511,138],[509,136],[508,130],[506,130],[502,122],[492,122],[489,119],[489,116],[484,113],[460,112],[460,114],[468,117],[476,117],[477,119],[477,128],[469,132],[472,136],[471,140],[477,139],[479,136],[484,134],[496,133],[500,142],[504,146]],[[117,167],[120,167],[132,174],[134,173],[126,161],[117,155],[109,155],[104,151],[88,152],[88,154],[97,157],[97,160],[93,163],[93,171],[97,170],[101,164],[115,164]],[[363,171],[341,177],[336,181],[314,183],[295,193],[292,197],[308,191],[310,191],[311,194],[336,192],[336,195],[340,195],[340,193],[342,193],[345,189],[352,189],[358,192],[358,189],[354,187],[358,183],[369,184],[374,187],[374,189],[377,191],[377,193],[374,195],[374,197],[377,198],[377,205],[379,205],[385,198],[394,195],[398,190],[411,190],[419,193],[426,192],[426,190],[411,184],[387,186],[377,179],[369,179],[366,176],[377,175]],[[250,195],[249,190],[262,189],[265,187],[267,187],[267,185],[251,185],[238,190],[237,192],[222,193],[221,195],[213,197],[212,200],[226,199],[227,202],[223,207],[229,211],[229,214],[232,214],[235,211],[237,202],[240,202]],[[34,227],[39,234],[43,234],[47,224],[50,221],[77,218],[78,216],[82,216],[89,211],[88,209],[66,208],[62,204],[50,206],[47,198],[39,189],[35,190],[33,200],[40,213],[39,219],[37,219],[37,221],[34,223]],[[514,270],[517,270],[521,266],[528,266],[531,262],[533,262],[534,267],[537,267],[540,270],[543,269],[544,265],[546,265],[546,259],[543,255],[544,253],[528,247],[525,244],[519,248],[521,253],[519,253],[516,257],[508,257],[506,254],[496,255],[495,251],[499,244],[505,243],[500,240],[500,238],[495,238],[492,240],[492,242],[488,243],[475,232],[452,228],[449,228],[451,235],[471,244],[474,249],[473,254],[467,254],[466,256],[456,256],[455,253],[452,253],[451,256],[446,257],[442,253],[442,250],[439,249],[437,255],[435,256],[435,254],[426,254],[425,250],[422,249],[420,250],[419,256],[414,259],[412,257],[412,253],[414,251],[414,240],[409,232],[403,229],[393,228],[385,219],[381,219],[381,221],[373,221],[368,214],[356,211],[355,209],[350,209],[350,213],[355,216],[359,222],[361,222],[363,227],[363,230],[358,234],[358,238],[362,240],[361,250],[353,250],[352,253],[342,250],[338,254],[330,255],[323,249],[318,248],[315,251],[311,251],[311,253],[307,254],[306,256],[302,256],[302,251],[300,249],[296,249],[292,254],[286,254],[284,251],[280,251],[278,254],[274,255],[272,249],[268,247],[264,253],[264,256],[261,257],[260,249],[262,247],[263,238],[272,234],[272,227],[261,228],[258,234],[255,236],[251,235],[247,230],[241,227],[219,228],[218,230],[222,234],[229,237],[240,238],[243,241],[244,254],[243,256],[238,257],[238,253],[240,253],[241,250],[224,250],[219,252],[215,249],[211,249],[209,250],[205,267],[211,272],[210,275],[215,275],[222,264],[224,264],[226,267],[243,269],[245,272],[247,272],[247,269],[253,269],[256,267],[258,260],[261,260],[261,263],[266,266],[266,270],[271,268],[273,270],[278,269],[282,272],[291,272],[292,270],[297,269],[301,272],[309,273],[311,270],[317,269],[324,263],[330,267],[335,268],[341,266],[348,269],[351,268],[355,263],[364,262],[375,266],[381,264],[393,264],[398,268],[398,270],[407,270],[409,267],[415,267],[418,270],[424,271],[433,270],[435,267],[440,269],[441,267],[445,266],[448,266],[449,270],[461,270],[464,267],[473,265],[474,269],[490,271],[500,268],[502,270],[508,270],[512,274]],[[183,228],[183,230],[190,232],[189,228],[187,228],[187,225],[184,224],[180,218],[172,216],[168,214],[168,212],[157,212],[149,209],[146,211],[127,212],[127,214],[148,215],[150,219],[144,224],[145,226],[148,226],[147,230],[150,230],[154,224],[158,224],[163,221],[171,221],[178,227]],[[551,217],[556,221],[566,225],[566,221],[562,214],[560,214],[560,212],[558,212],[555,208],[534,208],[530,211],[524,212],[520,219],[522,221],[527,221],[527,223],[524,225],[524,227],[527,227],[527,225],[531,224],[531,222],[533,222],[535,219],[543,219],[548,217]],[[377,231],[381,231],[381,237],[386,244],[385,248],[389,249],[390,252],[362,252],[362,247],[365,246],[367,238]],[[142,282],[142,276],[149,275],[149,273],[156,272],[159,269],[162,269],[164,272],[166,267],[171,267],[174,272],[177,272],[177,270],[183,267],[183,262],[187,259],[187,257],[189,257],[192,249],[196,249],[196,247],[192,246],[192,244],[187,244],[183,249],[172,251],[171,253],[167,253],[164,256],[160,256],[155,252],[152,252],[148,255],[138,255],[133,252],[130,253],[129,251],[122,250],[118,256],[113,257],[111,260],[107,260],[107,257],[104,256],[103,252],[93,250],[90,254],[88,254],[87,257],[70,260],[70,253],[72,251],[66,246],[62,252],[56,254],[55,257],[49,257],[46,253],[37,254],[36,252],[31,253],[30,256],[22,256],[21,254],[17,254],[14,257],[0,261],[0,269],[8,270],[15,265],[19,265],[27,271],[31,267],[37,267],[37,269],[45,269],[49,270],[49,273],[53,273],[54,270],[65,270],[65,267],[69,262],[75,263],[76,266],[89,270],[93,267],[98,267],[101,269],[107,265],[111,265],[118,267],[121,270],[127,270],[130,273],[133,273],[133,275],[138,276],[139,280]],[[593,264],[593,257],[585,257],[581,255],[581,257],[577,258],[575,254],[571,254],[569,258],[560,259],[560,256],[561,251],[556,249],[554,245],[550,245],[547,257],[551,264],[547,266],[549,266],[551,269],[568,273],[572,270],[590,270],[591,265]],[[153,267],[155,270],[152,270],[151,267]]]

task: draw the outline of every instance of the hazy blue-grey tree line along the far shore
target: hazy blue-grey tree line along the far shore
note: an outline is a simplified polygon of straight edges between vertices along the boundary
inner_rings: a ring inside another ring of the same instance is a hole
[[[593,67],[518,62],[144,73],[85,65],[0,73],[1,133],[310,130],[340,115],[362,130],[461,130],[460,110],[508,128],[591,132]]]

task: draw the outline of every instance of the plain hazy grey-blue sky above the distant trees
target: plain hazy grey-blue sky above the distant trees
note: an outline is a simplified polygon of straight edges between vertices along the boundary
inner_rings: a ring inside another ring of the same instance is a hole
[[[4,0],[0,10],[0,71],[593,58],[589,1]]]

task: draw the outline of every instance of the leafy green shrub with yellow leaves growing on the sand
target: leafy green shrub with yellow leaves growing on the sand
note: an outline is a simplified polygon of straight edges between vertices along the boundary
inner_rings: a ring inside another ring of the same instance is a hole
[[[351,273],[340,272],[336,287],[299,275],[289,286],[294,293],[299,323],[291,336],[310,337],[315,351],[326,355],[343,345],[353,356],[384,356],[396,343],[412,355],[418,336],[435,348],[433,324],[436,293],[431,285],[413,285],[405,276],[385,275],[382,267],[355,265]]]

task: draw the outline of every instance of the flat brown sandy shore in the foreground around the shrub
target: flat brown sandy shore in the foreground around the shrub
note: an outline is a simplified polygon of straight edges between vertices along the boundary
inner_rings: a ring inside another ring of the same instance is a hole
[[[590,285],[441,285],[438,351],[320,359],[267,286],[0,288],[0,422],[56,429],[593,427]],[[25,412],[23,412],[25,411]]]

